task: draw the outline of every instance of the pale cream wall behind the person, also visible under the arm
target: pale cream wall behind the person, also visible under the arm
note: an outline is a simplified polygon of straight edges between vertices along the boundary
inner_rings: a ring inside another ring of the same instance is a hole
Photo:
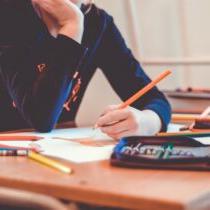
[[[128,46],[152,78],[172,69],[173,75],[160,88],[210,88],[209,0],[96,0],[96,4],[114,16]],[[77,121],[92,123],[109,103],[119,103],[119,99],[97,71]]]

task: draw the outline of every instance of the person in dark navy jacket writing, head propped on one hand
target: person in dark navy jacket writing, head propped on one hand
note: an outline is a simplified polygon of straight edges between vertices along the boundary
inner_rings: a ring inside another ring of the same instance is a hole
[[[83,0],[1,0],[0,28],[1,131],[49,132],[73,121],[97,67],[122,100],[150,82],[113,18]],[[170,106],[153,88],[132,107],[107,107],[96,124],[120,138],[155,134],[169,121]]]

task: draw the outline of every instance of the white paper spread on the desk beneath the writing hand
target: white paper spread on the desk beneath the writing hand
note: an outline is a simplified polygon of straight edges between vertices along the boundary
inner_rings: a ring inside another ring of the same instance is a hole
[[[83,163],[109,159],[115,142],[92,128],[56,129],[51,133],[24,132],[12,135],[35,135],[44,139],[33,142],[41,147],[41,153],[68,161]],[[11,146],[28,146],[31,141],[1,141]]]

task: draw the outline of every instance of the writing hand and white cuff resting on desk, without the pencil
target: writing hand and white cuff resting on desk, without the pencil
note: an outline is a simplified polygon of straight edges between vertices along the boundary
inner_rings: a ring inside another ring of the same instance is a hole
[[[124,109],[112,109],[98,119],[97,125],[102,132],[119,139],[126,136],[156,134],[161,128],[161,121],[152,110],[140,111],[129,106]]]

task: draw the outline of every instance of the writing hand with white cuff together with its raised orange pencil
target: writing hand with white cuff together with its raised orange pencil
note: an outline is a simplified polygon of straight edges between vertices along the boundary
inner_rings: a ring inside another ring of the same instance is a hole
[[[96,127],[99,127],[102,132],[115,139],[126,136],[154,135],[159,132],[161,120],[154,111],[140,111],[130,107],[130,105],[150,91],[170,73],[169,70],[163,72],[122,104],[107,107],[96,122]]]

